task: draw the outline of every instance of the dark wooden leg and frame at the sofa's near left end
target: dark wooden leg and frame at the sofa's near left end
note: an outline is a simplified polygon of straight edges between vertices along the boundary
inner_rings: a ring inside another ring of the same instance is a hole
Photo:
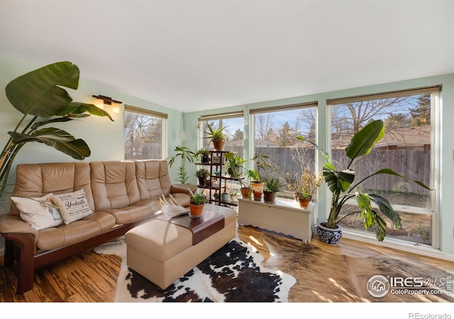
[[[16,242],[19,252],[19,273],[16,293],[21,295],[33,289],[33,280],[35,274],[34,255],[35,255],[35,242],[31,233],[9,233],[4,234],[6,241],[11,240]],[[10,242],[9,245],[13,245]],[[10,247],[8,254],[13,254],[13,247]],[[11,262],[13,256],[9,256],[8,263]]]

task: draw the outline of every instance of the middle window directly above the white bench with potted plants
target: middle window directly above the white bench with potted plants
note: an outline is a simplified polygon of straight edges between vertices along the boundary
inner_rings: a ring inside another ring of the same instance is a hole
[[[298,135],[316,140],[317,103],[303,103],[250,111],[253,128],[253,152],[267,155],[275,169],[260,172],[262,177],[277,177],[291,185],[305,169],[316,171],[316,152]],[[278,196],[293,197],[288,189]]]

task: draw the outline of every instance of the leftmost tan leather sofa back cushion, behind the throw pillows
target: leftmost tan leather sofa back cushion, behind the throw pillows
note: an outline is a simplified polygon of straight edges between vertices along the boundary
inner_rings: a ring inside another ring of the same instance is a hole
[[[35,198],[83,189],[92,209],[94,201],[90,184],[90,166],[86,162],[18,164],[16,167],[17,196]],[[20,215],[15,203],[10,214]]]

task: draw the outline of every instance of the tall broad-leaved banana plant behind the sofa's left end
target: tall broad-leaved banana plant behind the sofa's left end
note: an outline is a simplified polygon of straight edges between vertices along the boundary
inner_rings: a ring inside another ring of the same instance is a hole
[[[91,154],[90,148],[82,139],[76,139],[60,128],[44,127],[54,123],[64,123],[90,114],[107,116],[109,113],[93,104],[72,101],[65,86],[77,89],[79,67],[71,62],[56,62],[28,72],[6,85],[6,97],[23,116],[14,130],[8,132],[0,157],[0,197],[8,185],[9,173],[19,150],[27,142],[40,142],[70,155],[74,159],[84,159]]]

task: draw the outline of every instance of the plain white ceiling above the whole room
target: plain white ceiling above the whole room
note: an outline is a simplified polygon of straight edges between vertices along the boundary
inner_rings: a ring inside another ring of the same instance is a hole
[[[0,53],[68,60],[199,111],[453,73],[453,13],[454,1],[0,1]]]

